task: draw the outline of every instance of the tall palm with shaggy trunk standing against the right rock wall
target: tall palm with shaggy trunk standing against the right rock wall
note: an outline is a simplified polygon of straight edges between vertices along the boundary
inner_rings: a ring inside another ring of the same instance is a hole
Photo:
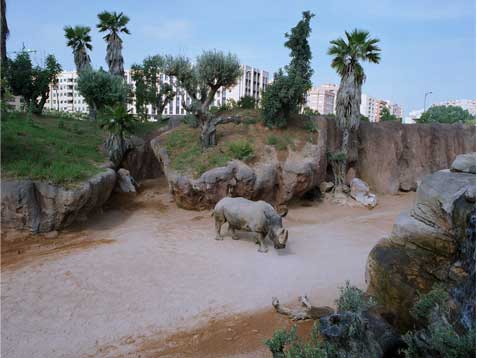
[[[328,54],[334,56],[331,67],[341,77],[336,96],[336,118],[342,131],[341,152],[334,155],[340,158],[338,175],[335,173],[337,186],[343,184],[346,174],[350,133],[358,128],[361,117],[361,86],[366,76],[360,61],[379,63],[381,60],[381,49],[377,46],[379,39],[370,38],[369,32],[355,29],[351,33],[345,31],[345,35],[346,40],[330,41],[328,49]]]

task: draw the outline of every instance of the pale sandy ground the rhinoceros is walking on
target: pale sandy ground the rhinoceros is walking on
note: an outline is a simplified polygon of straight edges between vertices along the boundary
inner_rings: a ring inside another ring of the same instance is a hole
[[[290,324],[272,297],[333,305],[345,280],[364,287],[368,252],[413,198],[296,205],[287,248],[267,254],[246,238],[214,240],[210,212],[176,208],[160,180],[58,238],[4,234],[1,355],[269,356],[263,340]]]

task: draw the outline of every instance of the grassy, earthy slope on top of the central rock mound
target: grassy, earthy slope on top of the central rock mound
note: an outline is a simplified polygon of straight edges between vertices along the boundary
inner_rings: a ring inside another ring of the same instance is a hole
[[[300,150],[306,142],[316,143],[318,138],[317,129],[306,117],[295,118],[286,129],[269,129],[257,110],[229,110],[220,115],[239,115],[242,121],[218,126],[214,147],[202,149],[200,128],[185,124],[161,136],[173,169],[199,177],[233,159],[253,164],[263,156],[266,145],[275,147],[279,159],[285,160],[289,150]]]

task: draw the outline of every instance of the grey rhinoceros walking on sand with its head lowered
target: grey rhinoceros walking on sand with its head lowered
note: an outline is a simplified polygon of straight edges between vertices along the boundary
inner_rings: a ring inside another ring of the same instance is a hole
[[[288,230],[282,226],[282,217],[273,206],[264,201],[251,201],[244,198],[223,198],[214,208],[216,240],[223,240],[220,229],[229,224],[232,238],[237,240],[235,230],[255,234],[259,252],[267,252],[265,239],[270,239],[276,249],[283,249],[288,240]],[[285,216],[286,213],[283,215]]]

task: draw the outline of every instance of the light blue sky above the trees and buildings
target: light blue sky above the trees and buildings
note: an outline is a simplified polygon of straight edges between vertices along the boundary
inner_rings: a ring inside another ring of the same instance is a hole
[[[314,85],[339,84],[329,42],[358,28],[379,38],[382,49],[379,64],[364,65],[363,93],[398,103],[405,114],[422,108],[428,91],[427,105],[476,96],[474,0],[7,0],[7,52],[25,44],[37,51],[35,63],[52,53],[65,70],[73,70],[63,27],[87,25],[93,65],[106,68],[106,43],[95,27],[103,10],[123,11],[131,19],[131,35],[123,36],[126,68],[149,55],[195,58],[218,49],[273,73],[289,62],[285,32],[310,10],[316,15],[309,39]]]

